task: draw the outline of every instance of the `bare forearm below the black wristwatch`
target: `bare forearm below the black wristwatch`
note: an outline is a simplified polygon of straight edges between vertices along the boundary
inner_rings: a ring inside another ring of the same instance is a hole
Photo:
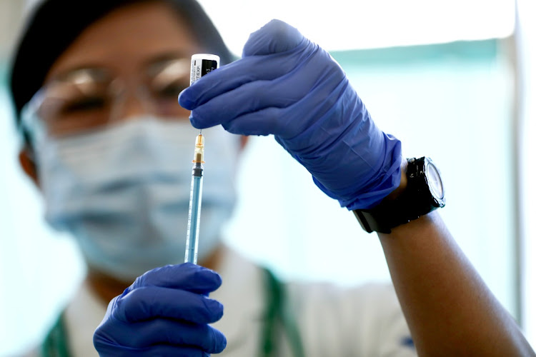
[[[535,356],[437,212],[379,239],[420,356]]]

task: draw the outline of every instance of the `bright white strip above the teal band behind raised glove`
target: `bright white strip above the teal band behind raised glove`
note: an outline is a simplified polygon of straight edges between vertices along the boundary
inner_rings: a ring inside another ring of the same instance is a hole
[[[236,54],[271,19],[324,49],[370,49],[505,37],[515,0],[199,0]]]

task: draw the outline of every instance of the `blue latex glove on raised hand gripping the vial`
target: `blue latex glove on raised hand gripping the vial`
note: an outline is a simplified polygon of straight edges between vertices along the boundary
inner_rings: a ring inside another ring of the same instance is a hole
[[[242,59],[179,96],[198,129],[268,135],[348,209],[370,208],[400,182],[401,144],[380,131],[334,59],[279,20],[249,36]]]

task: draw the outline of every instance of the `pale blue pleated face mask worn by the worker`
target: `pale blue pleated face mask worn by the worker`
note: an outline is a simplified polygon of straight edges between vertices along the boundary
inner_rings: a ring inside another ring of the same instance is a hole
[[[124,281],[182,263],[194,144],[188,121],[131,119],[36,143],[46,221],[69,231],[89,266]],[[239,139],[204,129],[199,261],[220,241],[235,203]]]

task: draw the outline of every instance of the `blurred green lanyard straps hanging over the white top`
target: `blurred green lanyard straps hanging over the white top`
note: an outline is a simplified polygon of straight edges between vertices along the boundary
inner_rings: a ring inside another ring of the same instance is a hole
[[[284,328],[284,332],[289,340],[294,357],[304,357],[302,340],[299,337],[294,318],[289,316],[289,311],[284,311],[285,294],[282,283],[268,269],[264,271],[264,287],[267,293],[267,306],[265,311],[265,321],[262,327],[261,345],[259,346],[259,357],[279,356],[278,338],[279,328]],[[49,334],[41,345],[41,355],[44,357],[70,357],[67,343],[66,329],[64,325],[64,313],[61,313]]]

